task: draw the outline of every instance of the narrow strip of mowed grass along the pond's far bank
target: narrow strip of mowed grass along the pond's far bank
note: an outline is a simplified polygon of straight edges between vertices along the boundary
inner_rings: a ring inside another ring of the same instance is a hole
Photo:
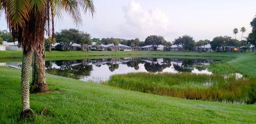
[[[86,56],[191,56],[234,58],[246,53],[236,52],[190,52],[190,51],[45,51],[46,58]],[[21,58],[22,51],[0,51],[0,59]]]

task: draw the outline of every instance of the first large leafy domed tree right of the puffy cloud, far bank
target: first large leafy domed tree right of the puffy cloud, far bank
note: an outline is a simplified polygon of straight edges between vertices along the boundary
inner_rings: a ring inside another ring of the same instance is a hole
[[[195,40],[190,36],[182,36],[174,40],[174,45],[182,45],[183,49],[192,51],[195,47]]]

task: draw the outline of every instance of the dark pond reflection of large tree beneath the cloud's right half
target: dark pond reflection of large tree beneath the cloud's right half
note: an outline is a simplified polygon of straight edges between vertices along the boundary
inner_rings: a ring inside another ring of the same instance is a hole
[[[152,63],[146,63],[144,66],[145,69],[151,73],[163,72],[163,69],[171,67],[171,62],[169,61],[169,59],[164,59],[163,63],[159,64],[157,59],[154,58]]]

